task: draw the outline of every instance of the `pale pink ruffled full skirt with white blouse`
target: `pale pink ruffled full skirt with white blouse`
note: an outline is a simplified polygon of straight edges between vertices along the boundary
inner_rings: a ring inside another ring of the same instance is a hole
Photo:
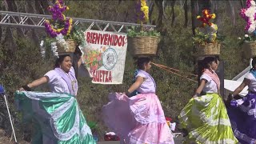
[[[155,94],[155,82],[146,71],[139,70],[138,76],[145,81],[137,94],[128,98],[125,94],[110,94],[110,102],[103,106],[103,120],[114,133],[130,144],[174,143],[170,128]]]

